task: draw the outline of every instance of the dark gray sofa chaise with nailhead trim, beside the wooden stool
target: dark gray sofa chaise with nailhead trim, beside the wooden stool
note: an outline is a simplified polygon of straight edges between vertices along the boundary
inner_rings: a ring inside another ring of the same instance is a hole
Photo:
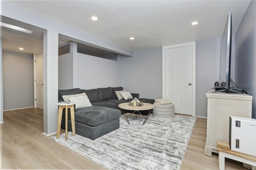
[[[65,109],[63,109],[65,111]],[[68,131],[72,131],[70,110],[68,110]],[[101,106],[90,106],[76,109],[76,134],[89,139],[96,139],[119,128],[121,111]],[[62,113],[61,128],[65,128],[65,112]]]

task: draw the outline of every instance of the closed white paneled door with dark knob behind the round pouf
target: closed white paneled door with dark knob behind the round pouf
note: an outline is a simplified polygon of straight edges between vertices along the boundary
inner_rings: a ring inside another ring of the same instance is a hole
[[[163,54],[165,58],[163,97],[172,101],[175,105],[175,113],[195,116],[195,93],[193,93],[195,65],[192,45],[164,47]]]

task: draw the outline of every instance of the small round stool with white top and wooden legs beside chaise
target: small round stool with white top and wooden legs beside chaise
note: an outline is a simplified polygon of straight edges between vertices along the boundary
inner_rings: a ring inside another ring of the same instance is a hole
[[[70,108],[70,117],[71,117],[71,125],[72,125],[72,133],[73,136],[76,135],[76,128],[75,128],[75,112],[74,112],[74,104],[75,102],[59,102],[59,111],[58,111],[58,125],[57,125],[57,139],[60,137],[60,126],[61,126],[61,119],[62,119],[62,111],[66,109],[66,140],[68,140],[68,108]]]

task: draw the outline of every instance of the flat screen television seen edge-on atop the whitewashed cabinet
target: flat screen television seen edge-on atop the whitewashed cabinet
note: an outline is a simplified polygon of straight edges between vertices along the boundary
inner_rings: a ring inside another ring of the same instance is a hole
[[[231,70],[231,46],[232,46],[232,17],[231,12],[228,13],[228,19],[224,29],[221,47],[220,47],[220,82],[221,90],[215,92],[241,93],[238,89],[230,86],[230,70]]]

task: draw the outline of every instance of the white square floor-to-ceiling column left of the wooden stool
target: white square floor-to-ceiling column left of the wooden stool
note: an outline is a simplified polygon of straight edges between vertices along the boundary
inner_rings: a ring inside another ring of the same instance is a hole
[[[58,32],[44,32],[44,134],[57,131],[58,121]]]

